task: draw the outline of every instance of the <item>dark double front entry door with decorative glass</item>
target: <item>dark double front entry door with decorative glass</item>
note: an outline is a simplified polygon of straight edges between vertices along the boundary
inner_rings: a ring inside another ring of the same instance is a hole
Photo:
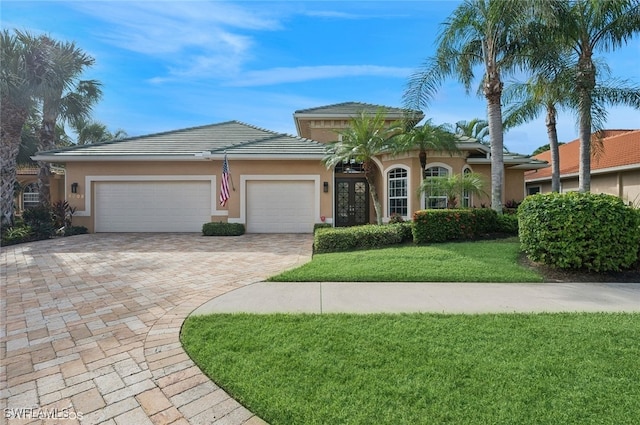
[[[369,223],[369,185],[366,179],[336,179],[336,227]]]

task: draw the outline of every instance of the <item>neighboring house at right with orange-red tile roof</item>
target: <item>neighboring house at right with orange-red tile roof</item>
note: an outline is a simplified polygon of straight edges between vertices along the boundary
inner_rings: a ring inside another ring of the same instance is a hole
[[[627,202],[640,202],[640,130],[603,130],[594,134],[602,142],[599,151],[592,142],[591,192],[609,193]],[[560,145],[560,191],[578,190],[580,141]],[[549,151],[534,158],[551,162]],[[551,192],[551,167],[525,174],[527,193]]]

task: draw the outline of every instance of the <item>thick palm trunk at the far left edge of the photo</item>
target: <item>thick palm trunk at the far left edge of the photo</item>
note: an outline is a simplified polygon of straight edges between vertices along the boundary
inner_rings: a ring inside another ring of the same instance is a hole
[[[2,226],[13,225],[13,198],[16,186],[18,151],[22,137],[22,127],[28,111],[17,108],[10,102],[0,103],[0,170],[2,175],[1,217]]]

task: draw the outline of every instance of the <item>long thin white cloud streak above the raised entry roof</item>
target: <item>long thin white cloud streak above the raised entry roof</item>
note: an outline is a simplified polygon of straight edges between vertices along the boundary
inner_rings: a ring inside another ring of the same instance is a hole
[[[248,71],[229,82],[236,87],[269,86],[283,83],[296,83],[311,80],[322,80],[342,77],[391,77],[406,78],[411,68],[377,65],[321,65],[298,66],[292,68],[272,68],[259,71]]]

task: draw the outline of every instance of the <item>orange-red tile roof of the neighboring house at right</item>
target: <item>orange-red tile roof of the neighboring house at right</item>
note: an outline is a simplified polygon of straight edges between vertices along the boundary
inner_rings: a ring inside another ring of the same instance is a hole
[[[637,164],[640,168],[640,130],[603,130],[594,133],[592,140],[598,135],[602,137],[603,152],[597,155],[591,145],[591,171],[622,167]],[[577,174],[580,164],[580,140],[576,139],[560,145],[560,175]],[[534,156],[536,159],[549,162],[551,152],[546,151]],[[525,180],[551,178],[551,167],[525,173]]]

